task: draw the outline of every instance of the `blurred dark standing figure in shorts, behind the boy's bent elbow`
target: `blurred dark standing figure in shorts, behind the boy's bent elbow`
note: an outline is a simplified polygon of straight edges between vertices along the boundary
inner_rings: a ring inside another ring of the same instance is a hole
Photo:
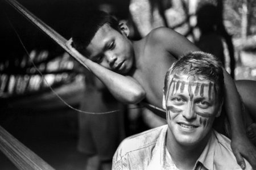
[[[125,137],[123,105],[93,74],[86,74],[85,84],[80,103],[82,111],[97,113],[122,109],[108,114],[79,113],[78,150],[86,154],[85,169],[111,169],[114,152]]]

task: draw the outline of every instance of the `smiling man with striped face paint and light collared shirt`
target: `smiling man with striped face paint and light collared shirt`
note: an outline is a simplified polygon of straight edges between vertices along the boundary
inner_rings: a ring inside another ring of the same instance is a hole
[[[112,169],[241,169],[230,139],[212,128],[223,95],[224,76],[216,57],[203,52],[181,57],[164,80],[167,125],[126,138]]]

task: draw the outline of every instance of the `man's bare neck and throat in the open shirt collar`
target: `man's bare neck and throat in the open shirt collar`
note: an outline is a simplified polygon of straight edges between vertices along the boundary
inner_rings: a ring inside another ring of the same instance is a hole
[[[210,133],[209,133],[210,134]],[[171,158],[178,169],[193,169],[197,159],[202,154],[210,135],[207,135],[205,139],[195,146],[180,145],[174,137],[172,137],[171,131],[168,128],[166,147],[169,151]]]

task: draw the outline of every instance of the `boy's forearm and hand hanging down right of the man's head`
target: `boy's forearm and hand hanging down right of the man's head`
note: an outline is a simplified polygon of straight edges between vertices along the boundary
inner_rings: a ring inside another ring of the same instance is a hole
[[[256,148],[246,136],[245,126],[242,121],[241,100],[236,85],[231,76],[224,70],[225,83],[225,110],[228,114],[231,129],[231,147],[236,156],[237,163],[245,169],[245,161],[248,160],[253,169],[256,169]]]

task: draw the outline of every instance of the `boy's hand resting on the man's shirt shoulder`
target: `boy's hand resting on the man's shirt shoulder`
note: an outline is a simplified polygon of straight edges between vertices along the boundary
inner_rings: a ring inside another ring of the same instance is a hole
[[[253,169],[256,169],[256,147],[246,136],[232,138],[231,148],[236,156],[237,163],[242,169],[245,169],[245,160],[243,160],[242,156],[250,163]]]

